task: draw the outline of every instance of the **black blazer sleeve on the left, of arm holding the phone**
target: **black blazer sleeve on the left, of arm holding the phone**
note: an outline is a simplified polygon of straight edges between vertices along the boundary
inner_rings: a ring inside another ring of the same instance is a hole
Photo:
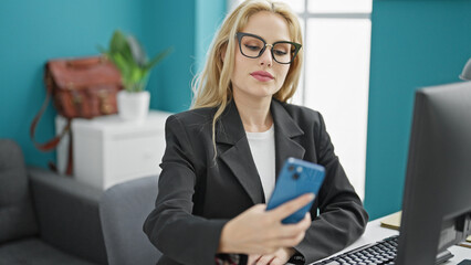
[[[156,206],[144,223],[144,232],[167,258],[181,264],[214,264],[227,220],[192,214],[197,176],[188,131],[176,116],[167,119],[165,130],[167,147]]]

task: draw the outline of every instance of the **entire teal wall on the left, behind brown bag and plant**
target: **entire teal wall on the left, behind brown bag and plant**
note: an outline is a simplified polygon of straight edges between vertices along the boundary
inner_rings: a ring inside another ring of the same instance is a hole
[[[201,32],[208,33],[203,26],[211,24],[206,20],[201,25],[198,18],[214,18],[212,23],[218,23],[224,15],[224,2],[1,0],[0,138],[19,142],[29,165],[46,167],[48,161],[55,160],[54,152],[36,150],[29,138],[31,120],[45,98],[44,63],[54,57],[96,55],[96,45],[106,46],[115,29],[136,35],[149,55],[174,46],[174,53],[151,72],[150,107],[187,109],[191,98],[190,66],[202,57],[197,54],[197,45],[203,38]],[[36,130],[39,141],[54,136],[54,116],[50,106]]]

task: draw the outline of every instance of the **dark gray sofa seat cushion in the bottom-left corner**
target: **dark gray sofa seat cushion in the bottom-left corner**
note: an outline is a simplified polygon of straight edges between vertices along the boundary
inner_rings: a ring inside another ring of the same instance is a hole
[[[92,265],[76,257],[70,256],[48,245],[38,239],[28,239],[0,245],[0,265],[24,264],[24,265]]]

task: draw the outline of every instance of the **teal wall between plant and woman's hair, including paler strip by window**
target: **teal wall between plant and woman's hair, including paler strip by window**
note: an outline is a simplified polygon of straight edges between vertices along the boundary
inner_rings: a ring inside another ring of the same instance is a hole
[[[157,65],[149,81],[155,92],[151,106],[168,112],[190,107],[192,77],[199,72],[216,29],[226,15],[226,1],[185,1],[185,8],[181,2],[145,0],[144,9],[145,40],[155,47],[149,54],[174,47],[168,62]]]

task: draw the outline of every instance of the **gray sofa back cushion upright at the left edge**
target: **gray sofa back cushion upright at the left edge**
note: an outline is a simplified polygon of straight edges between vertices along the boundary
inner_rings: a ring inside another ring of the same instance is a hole
[[[0,139],[0,244],[38,233],[23,153]]]

